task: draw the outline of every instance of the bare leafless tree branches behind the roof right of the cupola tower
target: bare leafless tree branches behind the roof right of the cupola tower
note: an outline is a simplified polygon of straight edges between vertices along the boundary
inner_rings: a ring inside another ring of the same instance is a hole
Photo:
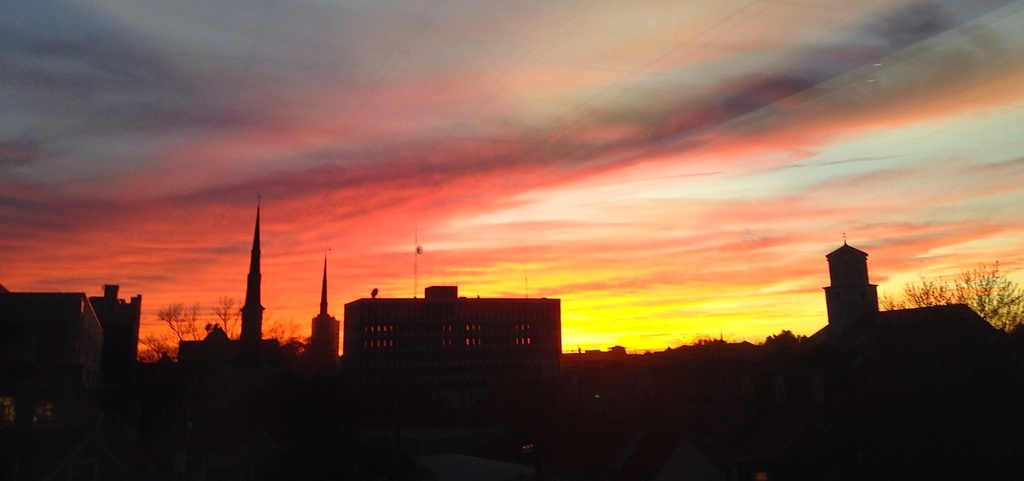
[[[903,287],[903,296],[883,296],[884,310],[967,304],[993,326],[1006,332],[1024,324],[1024,290],[1013,281],[999,263],[978,264],[947,277],[921,277]]]

